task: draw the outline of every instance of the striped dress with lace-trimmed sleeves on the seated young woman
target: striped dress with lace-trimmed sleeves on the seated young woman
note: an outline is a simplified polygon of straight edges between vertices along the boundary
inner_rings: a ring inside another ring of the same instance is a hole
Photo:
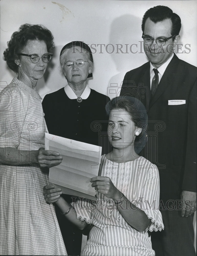
[[[77,218],[93,225],[81,255],[155,255],[147,231],[161,231],[164,228],[158,210],[159,173],[156,165],[144,157],[115,163],[103,155],[99,175],[109,177],[135,207],[145,212],[151,224],[145,231],[137,231],[116,209],[113,199],[96,192],[97,200],[82,200],[73,204]]]

